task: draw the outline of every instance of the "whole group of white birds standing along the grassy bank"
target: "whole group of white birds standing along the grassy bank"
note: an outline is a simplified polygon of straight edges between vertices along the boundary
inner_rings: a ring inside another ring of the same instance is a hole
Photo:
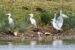
[[[8,21],[9,21],[9,25],[10,26],[14,26],[14,21],[11,17],[11,13],[8,13]],[[32,24],[33,28],[37,28],[37,24],[36,24],[36,20],[33,18],[34,15],[31,13],[30,15],[30,22]],[[60,10],[60,16],[58,18],[56,18],[56,14],[54,14],[54,18],[51,21],[51,24],[53,25],[54,29],[56,29],[57,31],[61,31],[62,30],[62,26],[63,26],[63,22],[64,19],[68,18],[67,15],[65,15],[62,10]]]

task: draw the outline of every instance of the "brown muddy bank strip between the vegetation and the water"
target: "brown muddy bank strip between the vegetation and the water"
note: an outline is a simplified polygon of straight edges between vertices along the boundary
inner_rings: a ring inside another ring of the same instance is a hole
[[[62,33],[50,33],[49,35],[46,34],[37,34],[37,32],[26,32],[26,33],[18,33],[17,36],[7,35],[5,33],[0,34],[0,41],[53,41],[55,38],[57,39],[75,39],[75,29],[70,29]]]

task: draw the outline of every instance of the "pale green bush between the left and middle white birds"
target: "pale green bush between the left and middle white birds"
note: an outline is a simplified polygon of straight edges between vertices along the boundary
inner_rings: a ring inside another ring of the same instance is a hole
[[[17,21],[17,20],[16,20],[16,21]],[[16,25],[16,26],[15,26],[15,27],[16,27],[15,30],[17,30],[17,31],[19,31],[19,32],[25,32],[25,31],[27,31],[28,28],[30,28],[29,17],[24,17],[23,20],[17,21],[17,22],[15,23],[15,25]]]

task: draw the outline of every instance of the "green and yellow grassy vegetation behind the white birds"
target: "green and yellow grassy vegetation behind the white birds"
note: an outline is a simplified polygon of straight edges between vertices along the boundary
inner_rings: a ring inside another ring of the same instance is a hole
[[[63,28],[75,28],[75,0],[0,0],[0,31],[9,29],[5,15],[8,12],[12,13],[14,19],[14,30],[25,32],[31,26],[29,13],[34,13],[38,26],[46,26],[50,24],[54,13],[57,13],[58,17],[60,9],[69,16]]]

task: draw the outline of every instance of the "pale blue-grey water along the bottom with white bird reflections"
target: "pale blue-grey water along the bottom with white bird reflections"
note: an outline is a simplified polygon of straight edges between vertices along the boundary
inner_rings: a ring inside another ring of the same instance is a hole
[[[56,45],[53,45],[53,43],[46,45],[46,44],[38,44],[37,41],[31,41],[30,44],[25,45],[25,44],[13,44],[12,42],[8,42],[7,44],[1,44],[0,50],[75,50],[75,44],[71,43],[66,44],[65,42],[62,42],[62,44],[60,44],[57,42],[57,40]]]

